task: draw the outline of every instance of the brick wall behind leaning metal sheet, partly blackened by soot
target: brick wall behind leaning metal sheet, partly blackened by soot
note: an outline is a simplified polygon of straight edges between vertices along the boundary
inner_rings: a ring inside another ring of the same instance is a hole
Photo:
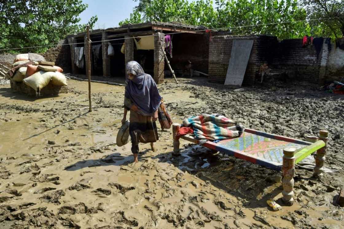
[[[209,43],[209,81],[223,84],[226,79],[233,40],[254,40],[243,85],[254,85],[263,62],[272,69],[295,72],[298,80],[318,84],[322,52],[317,56],[314,46],[302,47],[302,39],[281,42],[275,36],[214,36]]]

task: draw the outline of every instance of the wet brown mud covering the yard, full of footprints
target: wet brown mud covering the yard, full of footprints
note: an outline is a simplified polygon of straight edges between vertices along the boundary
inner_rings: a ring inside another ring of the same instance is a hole
[[[175,122],[221,113],[245,127],[303,139],[330,131],[323,179],[297,169],[295,204],[283,206],[279,172],[181,140],[116,146],[121,86],[69,80],[70,92],[30,98],[0,86],[0,228],[343,228],[334,199],[343,187],[342,96],[309,86],[245,88],[204,79],[160,85]],[[281,85],[280,85],[281,86]],[[159,125],[158,125],[159,126]],[[272,211],[274,198],[282,210]]]

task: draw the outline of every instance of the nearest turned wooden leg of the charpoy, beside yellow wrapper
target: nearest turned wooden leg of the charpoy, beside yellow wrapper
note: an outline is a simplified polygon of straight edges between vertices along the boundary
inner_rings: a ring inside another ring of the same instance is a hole
[[[288,206],[292,206],[294,203],[295,150],[295,148],[283,149],[282,200]]]

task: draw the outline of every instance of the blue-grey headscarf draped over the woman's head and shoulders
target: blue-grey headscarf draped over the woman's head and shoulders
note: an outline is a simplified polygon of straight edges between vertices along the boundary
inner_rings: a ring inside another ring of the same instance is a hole
[[[143,116],[153,116],[159,108],[161,96],[153,78],[144,73],[141,65],[130,61],[126,66],[127,74],[133,74],[133,79],[127,78],[124,106]]]

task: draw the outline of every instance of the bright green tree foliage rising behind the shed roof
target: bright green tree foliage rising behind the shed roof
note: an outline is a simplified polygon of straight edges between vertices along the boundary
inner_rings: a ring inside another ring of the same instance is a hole
[[[310,32],[303,21],[306,11],[297,6],[297,0],[215,0],[216,8],[212,0],[135,1],[139,1],[139,6],[120,25],[181,22],[212,29],[229,28],[234,35],[273,34],[280,39],[301,37]]]

